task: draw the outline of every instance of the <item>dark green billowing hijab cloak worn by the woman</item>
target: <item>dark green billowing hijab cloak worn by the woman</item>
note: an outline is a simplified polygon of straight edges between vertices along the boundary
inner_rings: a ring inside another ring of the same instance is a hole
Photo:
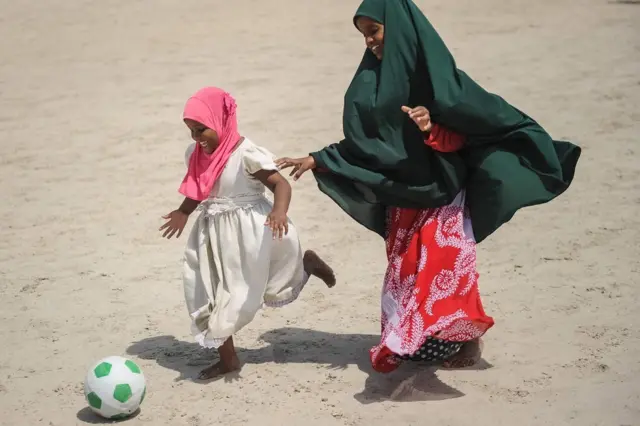
[[[518,209],[567,189],[580,148],[552,140],[458,70],[411,0],[365,0],[359,16],[384,24],[383,59],[365,52],[345,95],[344,140],[311,154],[319,188],[355,220],[384,236],[388,206],[440,207],[466,188],[480,242]],[[465,148],[433,151],[403,105],[425,106],[434,123],[467,137]]]

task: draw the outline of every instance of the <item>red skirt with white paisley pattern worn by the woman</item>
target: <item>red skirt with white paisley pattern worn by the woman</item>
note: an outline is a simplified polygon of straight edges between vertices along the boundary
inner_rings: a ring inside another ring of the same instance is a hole
[[[466,342],[493,326],[478,293],[464,192],[445,207],[390,209],[387,229],[382,337],[370,351],[373,368],[383,373],[426,348],[428,340]]]

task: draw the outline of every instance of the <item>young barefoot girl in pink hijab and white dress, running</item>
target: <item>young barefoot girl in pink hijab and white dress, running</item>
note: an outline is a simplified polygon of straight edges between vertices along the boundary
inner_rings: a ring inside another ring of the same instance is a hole
[[[274,156],[238,133],[231,95],[213,87],[199,90],[187,101],[184,122],[196,142],[187,149],[180,186],[186,198],[164,216],[160,231],[179,237],[189,215],[200,210],[183,277],[194,337],[220,354],[219,362],[200,373],[205,380],[240,369],[232,336],[263,304],[293,302],[310,275],[329,287],[335,276],[314,252],[302,254],[287,218],[291,186]],[[273,192],[273,204],[265,187]]]

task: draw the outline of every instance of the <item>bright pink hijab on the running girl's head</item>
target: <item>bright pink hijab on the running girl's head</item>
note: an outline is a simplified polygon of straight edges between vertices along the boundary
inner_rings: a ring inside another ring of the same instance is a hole
[[[189,159],[187,174],[180,185],[182,195],[202,201],[209,197],[240,139],[236,102],[222,89],[205,87],[189,98],[184,107],[183,118],[215,130],[220,139],[220,145],[211,155],[206,154],[200,144],[196,143],[196,149]]]

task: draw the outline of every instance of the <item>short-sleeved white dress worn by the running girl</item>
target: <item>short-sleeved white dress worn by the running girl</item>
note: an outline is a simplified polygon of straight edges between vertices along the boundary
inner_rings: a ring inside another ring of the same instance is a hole
[[[187,162],[194,147],[187,149]],[[282,240],[265,226],[272,203],[251,174],[278,170],[274,159],[245,139],[196,210],[184,254],[184,295],[193,335],[206,348],[220,347],[263,304],[293,302],[309,279],[293,224]]]

